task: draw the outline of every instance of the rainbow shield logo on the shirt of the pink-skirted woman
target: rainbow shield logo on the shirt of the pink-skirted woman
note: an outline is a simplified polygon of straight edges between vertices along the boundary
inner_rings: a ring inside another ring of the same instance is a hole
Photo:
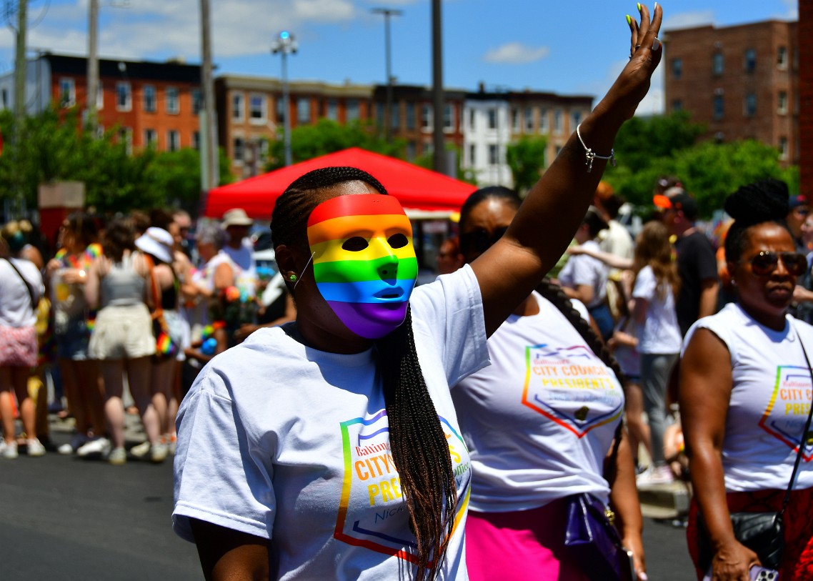
[[[522,403],[579,438],[624,411],[618,380],[584,345],[531,345],[525,364]]]

